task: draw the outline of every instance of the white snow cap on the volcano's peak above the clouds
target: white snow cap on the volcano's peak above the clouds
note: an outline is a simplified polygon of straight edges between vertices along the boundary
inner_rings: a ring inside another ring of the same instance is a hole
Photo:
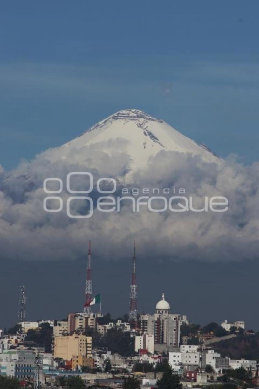
[[[82,149],[85,146],[102,142],[103,151],[110,153],[109,141],[123,139],[121,151],[130,156],[131,170],[148,165],[151,156],[159,151],[177,151],[199,155],[207,162],[219,163],[220,158],[208,147],[185,137],[165,121],[155,119],[137,109],[125,109],[116,112],[86,130],[82,135],[64,144],[62,153],[73,147]],[[82,151],[82,150],[81,150]]]

